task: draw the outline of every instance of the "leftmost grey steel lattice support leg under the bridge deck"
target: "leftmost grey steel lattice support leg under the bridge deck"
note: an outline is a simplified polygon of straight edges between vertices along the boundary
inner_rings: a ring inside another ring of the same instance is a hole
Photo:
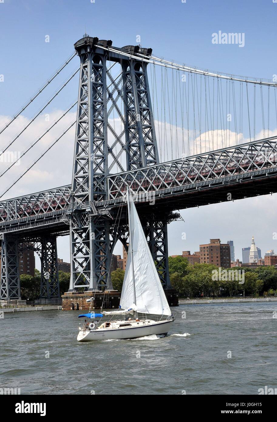
[[[1,300],[20,300],[18,238],[3,235],[1,259]]]

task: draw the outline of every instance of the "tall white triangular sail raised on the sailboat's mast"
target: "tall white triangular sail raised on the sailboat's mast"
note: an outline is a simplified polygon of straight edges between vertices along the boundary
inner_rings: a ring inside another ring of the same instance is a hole
[[[132,245],[134,260],[134,281],[136,307],[138,312],[156,315],[171,315],[164,289],[161,285],[143,228],[140,224],[134,202],[130,203]],[[131,251],[129,248],[120,305],[123,309],[133,307],[134,290],[132,281]]]

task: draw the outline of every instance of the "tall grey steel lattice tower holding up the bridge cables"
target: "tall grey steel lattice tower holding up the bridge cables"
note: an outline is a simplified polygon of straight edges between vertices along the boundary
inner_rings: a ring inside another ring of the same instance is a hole
[[[78,287],[84,287],[86,291],[100,288],[113,289],[110,279],[113,247],[127,230],[122,226],[121,230],[118,230],[114,219],[109,215],[97,214],[95,206],[96,202],[108,199],[108,159],[110,154],[114,157],[114,152],[108,146],[110,124],[107,103],[110,101],[116,106],[114,93],[117,97],[121,97],[124,103],[122,118],[125,131],[123,148],[126,153],[126,170],[159,163],[147,63],[143,62],[140,56],[141,53],[149,55],[152,50],[140,49],[139,46],[125,46],[122,49],[109,51],[110,46],[112,41],[100,41],[86,34],[74,45],[81,61],[81,68],[72,176],[73,200],[69,214],[71,248],[69,292],[74,292]],[[119,87],[119,82],[109,73],[107,60],[121,65],[122,89]],[[107,76],[111,81],[110,89],[107,87]],[[149,221],[145,221],[145,231],[148,233],[149,244],[154,254],[154,251],[161,250],[161,246],[157,247],[155,244],[153,227],[157,223],[152,220],[151,217]],[[164,238],[163,243],[167,248],[166,222],[161,222],[160,226],[164,229],[160,238]],[[165,265],[162,281],[165,285],[169,285],[168,265],[166,260],[162,262]]]

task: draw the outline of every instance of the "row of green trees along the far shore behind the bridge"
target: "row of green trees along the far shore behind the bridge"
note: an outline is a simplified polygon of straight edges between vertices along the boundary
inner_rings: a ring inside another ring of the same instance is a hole
[[[168,261],[170,281],[180,297],[277,294],[277,269],[273,266],[229,268],[230,271],[245,271],[244,283],[240,284],[235,279],[214,279],[213,271],[218,271],[218,267],[212,264],[191,265],[186,257],[169,257]],[[111,273],[113,288],[119,292],[122,289],[124,273],[121,268]],[[59,271],[61,295],[69,289],[69,281],[70,273]],[[35,300],[40,297],[40,272],[37,269],[34,277],[22,274],[20,284],[22,299]]]

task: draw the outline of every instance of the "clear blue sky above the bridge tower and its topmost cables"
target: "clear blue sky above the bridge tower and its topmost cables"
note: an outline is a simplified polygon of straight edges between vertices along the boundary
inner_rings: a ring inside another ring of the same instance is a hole
[[[13,113],[15,100],[24,103],[71,54],[85,28],[115,46],[135,44],[140,35],[143,46],[170,60],[272,78],[276,18],[272,0],[4,0],[0,68],[8,83],[0,87],[0,113]],[[211,35],[219,30],[244,32],[245,47],[213,45]]]

